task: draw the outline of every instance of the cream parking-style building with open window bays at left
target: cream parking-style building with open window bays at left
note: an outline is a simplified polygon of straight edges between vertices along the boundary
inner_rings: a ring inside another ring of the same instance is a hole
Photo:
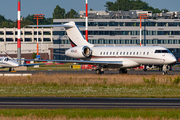
[[[42,59],[53,58],[53,28],[39,28],[39,52]],[[21,57],[32,59],[37,52],[37,28],[21,29]],[[17,57],[17,28],[0,28],[0,55],[7,51],[12,57]]]

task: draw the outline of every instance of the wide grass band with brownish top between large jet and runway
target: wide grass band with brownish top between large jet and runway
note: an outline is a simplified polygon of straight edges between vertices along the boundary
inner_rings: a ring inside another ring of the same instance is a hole
[[[180,77],[91,74],[1,76],[0,96],[180,98]]]

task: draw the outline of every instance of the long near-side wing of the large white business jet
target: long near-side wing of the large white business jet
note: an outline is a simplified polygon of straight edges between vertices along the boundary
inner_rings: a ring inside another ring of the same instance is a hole
[[[123,65],[122,61],[82,61],[82,60],[34,60],[34,59],[22,59],[24,61],[50,61],[50,62],[61,62],[61,63],[79,63],[79,64],[91,64],[91,65]]]

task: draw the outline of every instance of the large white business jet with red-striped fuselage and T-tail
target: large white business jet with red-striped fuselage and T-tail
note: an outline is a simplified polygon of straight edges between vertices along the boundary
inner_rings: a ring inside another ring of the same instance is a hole
[[[29,26],[37,27],[37,25]],[[72,48],[66,50],[66,56],[81,59],[47,61],[96,65],[97,74],[103,74],[104,68],[118,68],[119,73],[127,73],[127,68],[141,65],[163,66],[163,74],[166,74],[168,66],[176,62],[175,56],[161,46],[94,46],[85,40],[73,21],[63,25],[38,25],[38,27],[64,27],[72,45]]]

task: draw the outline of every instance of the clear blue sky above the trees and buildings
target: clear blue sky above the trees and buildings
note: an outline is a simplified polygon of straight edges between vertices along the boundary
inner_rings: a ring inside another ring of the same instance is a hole
[[[106,2],[117,0],[88,0],[88,8],[104,11]],[[180,11],[180,0],[142,0],[154,8],[166,8],[170,11]],[[1,0],[0,14],[6,19],[17,19],[18,0]],[[74,9],[76,12],[85,10],[86,0],[21,0],[21,16],[26,17],[33,14],[45,14],[46,18],[52,18],[56,5],[64,8],[66,12]]]

